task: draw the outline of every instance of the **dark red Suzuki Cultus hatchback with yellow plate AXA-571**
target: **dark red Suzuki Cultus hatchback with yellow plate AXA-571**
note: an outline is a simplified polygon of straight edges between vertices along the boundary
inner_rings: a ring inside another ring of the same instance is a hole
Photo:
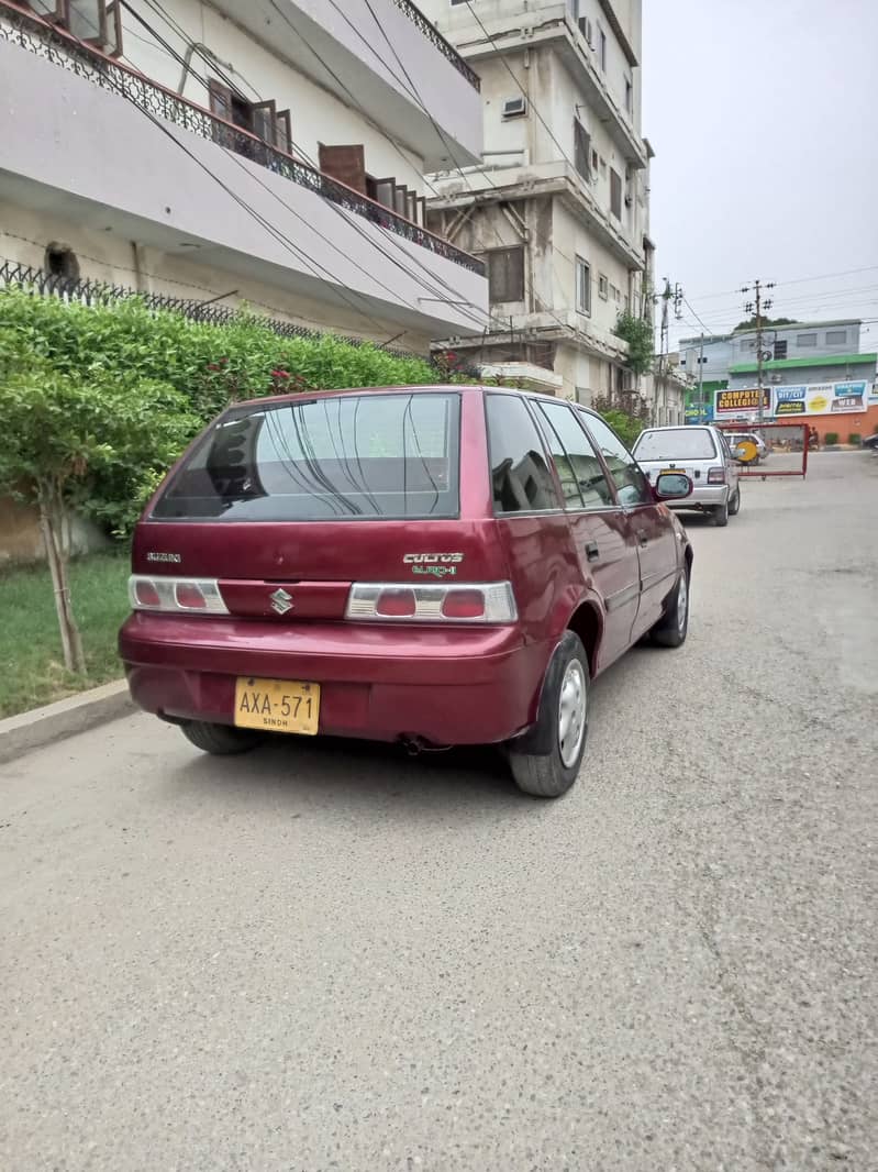
[[[268,732],[505,745],[528,793],[576,779],[591,681],[686,638],[692,550],[594,413],[487,387],[236,404],[133,540],[133,699],[207,752]]]

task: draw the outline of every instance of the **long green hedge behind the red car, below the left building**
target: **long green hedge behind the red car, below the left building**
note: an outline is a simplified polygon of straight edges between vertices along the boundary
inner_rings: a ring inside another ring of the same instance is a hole
[[[14,287],[0,289],[0,354],[13,352],[19,369],[23,362],[32,372],[48,372],[60,389],[64,381],[70,388],[103,387],[143,397],[144,406],[165,394],[163,422],[179,423],[181,443],[241,398],[438,381],[424,359],[354,346],[329,334],[282,338],[246,313],[218,326],[149,309],[136,298],[87,306]],[[7,406],[14,410],[11,386],[8,390]],[[179,421],[167,418],[174,402]],[[124,533],[155,481],[151,469],[108,466],[94,477],[87,512]],[[0,484],[0,491],[12,488]]]

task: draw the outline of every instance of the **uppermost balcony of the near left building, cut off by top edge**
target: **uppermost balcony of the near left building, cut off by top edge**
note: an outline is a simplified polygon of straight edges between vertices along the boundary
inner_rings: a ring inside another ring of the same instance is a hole
[[[426,171],[481,157],[479,75],[410,0],[212,0],[254,40],[362,111]]]

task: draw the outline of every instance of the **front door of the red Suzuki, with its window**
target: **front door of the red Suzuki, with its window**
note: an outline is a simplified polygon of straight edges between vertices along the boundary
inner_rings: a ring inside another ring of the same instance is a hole
[[[635,642],[661,618],[682,564],[680,541],[671,511],[656,500],[650,482],[612,428],[599,415],[577,410],[604,458],[637,543],[640,605],[631,639]]]

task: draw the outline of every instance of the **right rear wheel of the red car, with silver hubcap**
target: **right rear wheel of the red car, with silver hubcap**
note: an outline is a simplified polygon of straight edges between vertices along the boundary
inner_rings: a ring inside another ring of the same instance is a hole
[[[551,657],[540,696],[537,730],[550,745],[549,751],[528,752],[521,742],[508,747],[512,775],[524,793],[558,798],[574,784],[588,740],[588,703],[589,659],[579,636],[567,631]],[[564,728],[567,735],[562,736]]]

